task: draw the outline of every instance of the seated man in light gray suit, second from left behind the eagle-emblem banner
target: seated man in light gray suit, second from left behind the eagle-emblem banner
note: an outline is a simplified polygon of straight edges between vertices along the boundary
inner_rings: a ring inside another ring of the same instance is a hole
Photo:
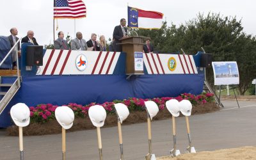
[[[87,50],[86,41],[83,39],[83,35],[81,32],[76,33],[76,38],[71,40],[71,49],[78,51],[86,51]]]

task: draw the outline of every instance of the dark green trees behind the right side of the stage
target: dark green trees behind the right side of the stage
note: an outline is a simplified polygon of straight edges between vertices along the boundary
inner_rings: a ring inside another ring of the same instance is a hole
[[[182,48],[186,54],[196,54],[203,47],[214,61],[237,61],[240,78],[237,92],[244,95],[250,88],[250,93],[255,94],[252,80],[256,78],[256,40],[243,32],[242,22],[236,17],[199,13],[179,27],[163,22],[161,29],[136,29],[136,32],[152,38],[155,51],[179,53]],[[213,70],[206,71],[207,81],[213,86]]]

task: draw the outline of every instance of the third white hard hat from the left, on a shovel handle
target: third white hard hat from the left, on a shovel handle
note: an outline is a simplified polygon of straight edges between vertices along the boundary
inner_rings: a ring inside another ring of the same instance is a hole
[[[89,108],[89,117],[92,121],[92,124],[95,127],[102,127],[106,119],[107,113],[106,110],[99,105],[95,105]]]

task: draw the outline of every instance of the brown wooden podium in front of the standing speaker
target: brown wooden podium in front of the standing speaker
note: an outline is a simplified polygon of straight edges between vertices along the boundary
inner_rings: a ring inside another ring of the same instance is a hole
[[[144,74],[143,70],[135,70],[134,66],[134,52],[143,51],[144,36],[128,36],[120,39],[122,51],[126,52],[126,74],[127,75],[140,75]]]

